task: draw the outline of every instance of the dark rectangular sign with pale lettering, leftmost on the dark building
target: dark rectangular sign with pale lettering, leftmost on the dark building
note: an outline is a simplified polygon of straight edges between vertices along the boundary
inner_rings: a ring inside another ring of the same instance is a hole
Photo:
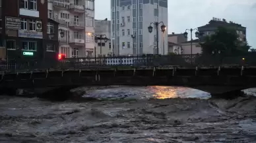
[[[6,16],[5,28],[11,29],[11,30],[19,30],[21,28],[21,19],[18,17]]]

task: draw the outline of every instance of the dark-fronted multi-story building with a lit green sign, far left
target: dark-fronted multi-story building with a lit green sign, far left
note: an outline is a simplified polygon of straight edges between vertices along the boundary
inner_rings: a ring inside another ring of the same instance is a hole
[[[47,1],[1,2],[1,44],[8,61],[57,61],[58,23],[48,19]]]

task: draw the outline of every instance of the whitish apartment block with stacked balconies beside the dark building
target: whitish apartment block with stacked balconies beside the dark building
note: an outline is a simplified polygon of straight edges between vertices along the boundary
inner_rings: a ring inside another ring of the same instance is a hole
[[[48,0],[48,17],[59,22],[59,53],[67,58],[92,57],[94,1]]]

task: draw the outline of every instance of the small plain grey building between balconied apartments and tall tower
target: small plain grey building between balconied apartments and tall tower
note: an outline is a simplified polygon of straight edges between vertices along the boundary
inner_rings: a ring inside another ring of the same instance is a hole
[[[95,20],[95,55],[96,57],[102,55],[112,56],[111,47],[111,22],[110,20]],[[100,36],[102,36],[102,41],[100,42]],[[101,46],[100,46],[101,45]]]

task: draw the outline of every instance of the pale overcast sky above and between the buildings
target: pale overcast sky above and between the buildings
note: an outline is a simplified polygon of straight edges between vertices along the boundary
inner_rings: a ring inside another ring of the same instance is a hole
[[[95,18],[110,20],[110,0],[95,1]],[[248,43],[256,48],[256,0],[168,0],[168,34],[203,26],[212,17],[247,27]]]

